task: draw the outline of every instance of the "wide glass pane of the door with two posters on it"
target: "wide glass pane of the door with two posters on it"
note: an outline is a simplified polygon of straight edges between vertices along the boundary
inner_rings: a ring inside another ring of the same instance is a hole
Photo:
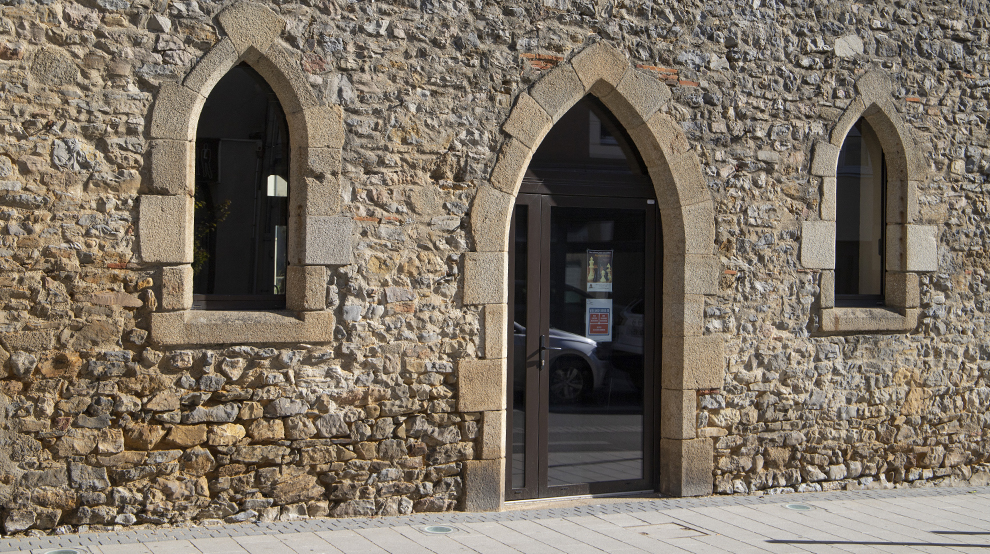
[[[551,208],[549,486],[643,478],[645,233],[642,210]]]

